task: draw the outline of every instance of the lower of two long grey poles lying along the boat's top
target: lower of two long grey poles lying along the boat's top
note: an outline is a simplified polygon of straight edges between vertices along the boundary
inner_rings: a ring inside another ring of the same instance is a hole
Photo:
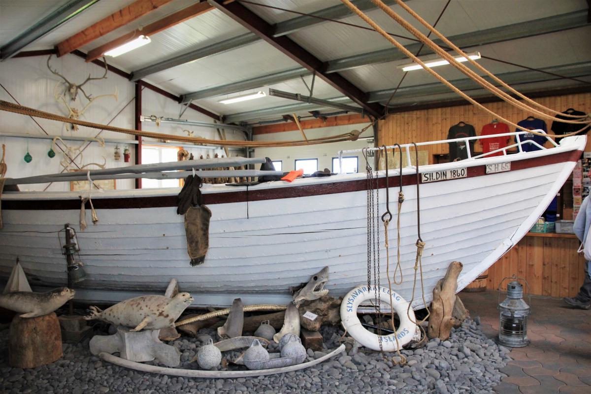
[[[37,177],[27,178],[9,178],[7,185],[24,185],[33,183],[47,182],[70,182],[86,181],[86,172],[70,172],[70,177],[55,177],[54,175],[38,175]],[[111,179],[180,179],[186,178],[191,174],[190,171],[167,171],[167,172],[144,172],[141,174],[116,174],[116,175],[91,175],[93,181],[111,180]],[[219,177],[261,177],[264,175],[283,175],[281,171],[261,171],[261,170],[204,170],[197,171],[201,178],[219,178]]]

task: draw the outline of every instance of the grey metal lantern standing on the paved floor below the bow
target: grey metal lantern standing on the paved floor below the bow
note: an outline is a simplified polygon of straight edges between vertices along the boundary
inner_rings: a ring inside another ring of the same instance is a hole
[[[505,279],[514,279],[507,285],[507,294],[501,301],[501,285]],[[527,285],[529,302],[531,304],[530,285],[524,278],[504,278],[499,284],[499,337],[498,342],[509,347],[524,347],[530,344],[527,338],[527,319],[530,315],[530,305],[523,299],[523,286],[517,281],[522,279]]]

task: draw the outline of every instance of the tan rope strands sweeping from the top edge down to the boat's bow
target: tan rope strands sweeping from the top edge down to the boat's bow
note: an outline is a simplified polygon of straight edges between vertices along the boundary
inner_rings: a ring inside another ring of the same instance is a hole
[[[391,35],[389,35],[387,32],[384,31],[383,28],[381,28],[378,24],[376,24],[375,21],[373,21],[371,18],[369,18],[366,14],[364,14],[359,8],[357,8],[355,5],[352,4],[352,2],[350,2],[349,0],[341,0],[343,2],[343,4],[345,4],[346,6],[348,6],[349,9],[351,9],[351,11],[355,12],[356,15],[358,15],[360,18],[363,19],[363,21],[365,21],[367,24],[369,24],[372,28],[374,28],[374,30],[376,32],[378,32],[379,34],[381,34],[384,38],[386,38],[388,41],[390,41],[390,43],[392,43],[395,47],[398,48],[398,50],[402,51],[402,53],[404,53],[408,58],[411,58],[411,60],[415,61],[415,63],[420,64],[424,70],[426,70],[428,73],[430,73],[433,77],[435,77],[437,80],[439,80],[439,82],[443,83],[444,85],[446,85],[447,87],[449,87],[453,92],[457,93],[457,95],[463,97],[464,99],[466,99],[468,102],[472,103],[472,105],[476,106],[477,108],[484,110],[485,112],[489,113],[492,116],[495,116],[496,118],[500,119],[501,121],[507,123],[508,125],[514,126],[517,129],[521,129],[523,131],[527,131],[528,133],[533,133],[535,135],[543,135],[543,136],[550,136],[550,137],[558,137],[558,138],[563,138],[565,136],[570,136],[570,135],[576,135],[577,133],[583,131],[584,129],[587,128],[587,126],[589,124],[591,124],[591,119],[589,119],[588,116],[586,117],[579,117],[579,116],[570,116],[571,118],[579,118],[578,120],[566,120],[566,119],[559,119],[559,118],[555,118],[554,116],[549,116],[546,115],[543,112],[540,112],[534,108],[532,108],[531,106],[526,105],[525,103],[519,102],[517,99],[514,99],[514,97],[511,97],[508,95],[508,93],[503,92],[502,90],[498,89],[497,87],[493,86],[491,83],[489,83],[488,81],[484,80],[482,77],[480,77],[478,74],[476,74],[474,71],[468,69],[464,64],[457,62],[456,60],[453,59],[453,57],[447,53],[446,51],[443,50],[443,48],[439,47],[439,45],[435,44],[432,40],[430,40],[428,37],[426,37],[424,34],[422,34],[420,31],[418,31],[417,29],[415,29],[412,25],[410,25],[407,21],[405,21],[403,18],[400,17],[400,15],[398,15],[396,12],[392,11],[391,8],[389,8],[387,5],[384,4],[384,2],[382,2],[381,0],[372,0],[372,2],[378,6],[380,9],[382,9],[382,11],[386,12],[390,17],[392,17],[396,22],[398,22],[398,24],[400,24],[402,27],[405,28],[405,30],[411,32],[411,34],[415,35],[415,37],[417,37],[422,43],[426,44],[428,47],[430,47],[432,50],[434,50],[437,54],[439,54],[441,57],[443,57],[444,59],[446,59],[447,61],[449,61],[450,64],[452,64],[454,67],[456,67],[457,69],[459,69],[460,71],[462,71],[462,73],[466,74],[466,76],[468,76],[470,79],[475,80],[476,83],[480,84],[480,86],[482,86],[483,88],[485,88],[486,90],[488,90],[489,92],[493,93],[494,95],[498,96],[499,98],[501,98],[502,100],[504,100],[505,102],[509,103],[512,106],[515,106],[519,109],[528,111],[528,112],[532,112],[537,114],[538,116],[541,116],[544,119],[548,119],[548,120],[556,120],[558,122],[564,122],[564,123],[580,123],[583,126],[583,128],[581,128],[578,131],[575,132],[571,132],[568,134],[564,134],[564,135],[554,135],[554,134],[546,134],[546,133],[539,133],[539,132],[535,132],[535,131],[531,131],[528,129],[525,129],[519,125],[517,125],[517,123],[511,122],[508,119],[503,118],[502,116],[496,114],[495,112],[493,112],[492,110],[486,108],[485,106],[481,105],[480,103],[476,102],[474,99],[472,99],[472,97],[466,95],[466,93],[462,92],[462,90],[457,89],[457,87],[455,87],[452,83],[450,83],[449,81],[447,81],[446,79],[444,79],[443,77],[441,77],[436,71],[434,71],[433,69],[431,69],[430,67],[425,66],[425,64],[423,63],[423,61],[421,61],[418,57],[414,56],[414,54],[412,54],[410,51],[408,51],[404,45],[398,43],[397,40],[395,40],[393,37],[391,37]],[[400,4],[401,6],[404,7],[404,9],[406,9],[408,12],[412,12],[411,15],[416,15],[415,18],[420,18],[417,14],[414,13],[414,11],[410,8],[408,8],[407,5],[405,5],[401,0],[396,0],[398,4]],[[414,16],[413,15],[413,16]],[[431,27],[430,25],[427,24],[427,22],[424,21],[424,19],[420,19],[420,22],[423,23],[424,25],[428,26],[428,28],[433,31],[435,34],[438,35],[438,37],[442,38],[443,35],[441,35],[437,30],[435,30],[433,27]],[[442,38],[442,40],[444,39],[444,37]],[[475,61],[471,60],[469,57],[467,57],[467,55],[465,53],[463,53],[462,50],[460,50],[459,48],[457,48],[455,45],[453,45],[452,43],[450,43],[449,40],[445,39],[444,40],[446,42],[446,44],[452,46],[454,48],[454,50],[456,50],[461,56],[465,56],[470,63],[472,64],[476,64],[477,67],[482,68],[482,70],[485,70],[484,67],[480,66],[478,63],[476,63]],[[489,71],[485,71],[487,74],[489,74],[489,76],[492,76],[492,73],[489,73]],[[516,90],[512,89],[510,86],[508,86],[506,83],[502,82],[500,79],[498,79],[497,77],[492,76],[493,79],[497,80],[497,82],[501,83],[503,86],[508,87],[508,89],[511,90],[511,92],[517,92]],[[515,94],[519,94],[519,96],[523,96],[521,95],[521,93],[515,93]],[[531,99],[527,99],[528,102],[533,102],[535,103],[533,100]],[[545,110],[548,110],[550,112],[553,113],[558,113],[556,112],[556,110],[553,109],[547,109],[544,106],[540,105],[539,103],[535,103],[536,106],[543,108]],[[564,114],[562,114],[561,116],[564,116]]]

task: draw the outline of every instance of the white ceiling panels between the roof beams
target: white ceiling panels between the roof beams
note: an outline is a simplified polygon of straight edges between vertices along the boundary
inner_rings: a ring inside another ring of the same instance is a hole
[[[24,26],[33,25],[35,21],[62,5],[64,1],[0,0],[0,44],[14,38],[24,30]],[[304,13],[342,4],[339,0],[255,0],[255,2]],[[100,1],[88,11],[73,18],[26,49],[51,48],[61,40],[130,3],[131,0]],[[88,51],[193,3],[194,1],[191,0],[174,0],[144,17],[138,18],[137,21],[86,45],[82,50]],[[407,4],[427,21],[434,22],[446,4],[446,0],[410,0]],[[259,5],[243,5],[271,24],[298,17],[297,14],[292,12],[265,8]],[[398,6],[393,8],[398,9]],[[566,14],[567,12],[582,9],[587,9],[585,0],[562,0],[560,2],[552,0],[452,0],[437,28],[443,34],[452,36],[519,22],[527,23],[527,21],[534,19]],[[410,37],[410,33],[398,27],[384,12],[374,9],[367,13],[381,24],[385,30]],[[402,13],[401,15],[410,21],[407,14]],[[365,26],[365,23],[356,16],[351,15],[341,20]],[[411,22],[415,27],[426,32],[426,28],[418,25],[418,22],[414,22],[414,20]],[[151,44],[120,57],[109,59],[109,63],[121,69],[133,71],[197,48],[219,43],[246,32],[245,28],[222,12],[213,10],[152,35]],[[392,48],[392,45],[387,40],[375,32],[335,22],[317,23],[311,27],[293,32],[288,37],[323,61]],[[413,41],[404,39],[400,39],[400,42],[402,44],[413,43]],[[469,51],[474,50],[479,50],[485,56],[498,57],[530,67],[547,67],[557,64],[591,61],[591,27],[587,26],[537,37],[469,48]],[[408,61],[372,64],[342,71],[340,74],[364,92],[372,92],[395,87],[402,76],[402,71],[396,69],[396,66],[404,63],[408,63]],[[480,60],[480,63],[494,73],[521,70],[518,67],[491,60],[483,59]],[[180,95],[298,67],[300,66],[295,61],[276,48],[264,41],[257,41],[225,53],[204,57],[191,63],[152,74],[145,79]],[[459,71],[450,66],[438,67],[437,71],[449,79],[463,77]],[[307,77],[307,80],[310,80],[310,78]],[[424,71],[413,71],[408,74],[402,86],[414,86],[431,82],[433,82],[433,78]],[[307,94],[306,87],[300,79],[276,83],[271,86],[275,89],[288,90],[303,95]],[[342,95],[329,84],[317,79],[314,96],[328,98]],[[197,100],[196,103],[224,114],[294,103],[277,97],[267,97],[261,100],[225,106],[218,103],[220,99],[221,97],[210,97]]]

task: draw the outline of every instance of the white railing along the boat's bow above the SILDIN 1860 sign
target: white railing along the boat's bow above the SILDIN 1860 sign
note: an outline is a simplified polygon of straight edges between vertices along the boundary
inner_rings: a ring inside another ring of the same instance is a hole
[[[541,129],[535,129],[532,131],[545,134],[545,132]],[[386,149],[392,149],[392,151],[394,151],[394,149],[398,149],[398,150],[403,149],[406,152],[406,156],[407,156],[406,157],[407,167],[413,167],[413,163],[411,162],[410,148],[413,148],[415,146],[418,148],[418,146],[449,144],[450,142],[464,142],[466,144],[466,146],[469,146],[470,141],[475,141],[477,139],[486,139],[486,138],[498,138],[498,137],[504,137],[504,136],[514,136],[515,140],[517,141],[517,142],[515,142],[515,144],[504,146],[503,148],[495,149],[494,151],[486,152],[486,153],[476,155],[476,156],[472,156],[472,152],[470,152],[470,149],[467,149],[467,156],[468,157],[466,159],[463,159],[463,161],[479,159],[479,158],[482,158],[485,156],[492,157],[492,155],[496,154],[497,152],[502,152],[502,154],[506,156],[507,151],[509,149],[512,149],[515,147],[517,147],[519,153],[523,153],[524,152],[523,146],[525,144],[537,146],[538,149],[547,149],[543,145],[538,144],[537,142],[535,142],[532,139],[525,139],[523,141],[521,140],[521,138],[520,138],[521,135],[529,134],[529,133],[530,133],[530,131],[517,131],[517,132],[511,132],[511,133],[499,133],[499,134],[491,134],[491,135],[477,135],[477,136],[473,136],[473,137],[441,139],[439,141],[416,142],[414,144],[411,143],[411,144],[389,145],[389,146],[386,146]],[[548,136],[546,137],[546,139],[547,139],[547,141],[550,141],[550,143],[552,145],[558,146],[558,144],[556,143],[556,141],[554,141],[554,139],[552,139]],[[361,151],[375,152],[375,151],[379,151],[381,149],[384,149],[384,146],[381,146],[381,147],[376,146],[375,148],[346,149],[346,150],[339,151],[339,169],[343,168],[343,165],[342,165],[343,164],[343,155],[352,154],[352,153],[361,152]],[[342,172],[342,171],[340,171],[340,172]]]

